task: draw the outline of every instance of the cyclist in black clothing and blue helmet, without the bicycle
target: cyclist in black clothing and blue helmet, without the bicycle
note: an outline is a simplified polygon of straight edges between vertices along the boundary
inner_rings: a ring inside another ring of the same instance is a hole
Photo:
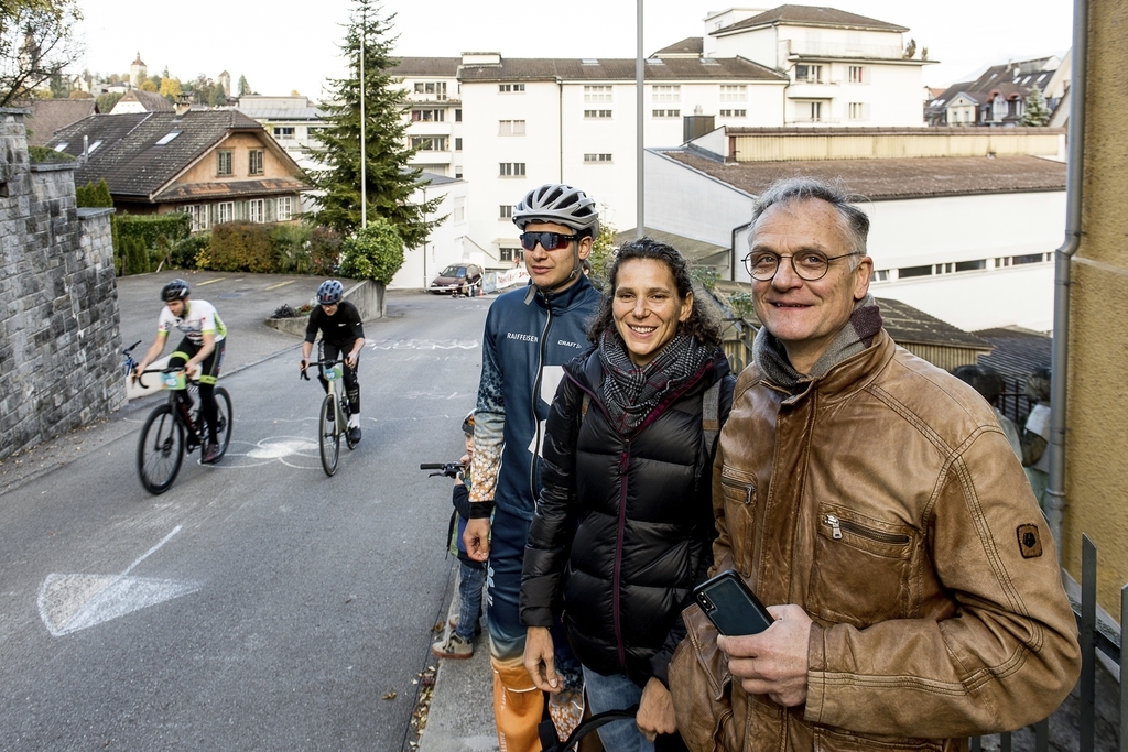
[[[306,342],[301,343],[301,370],[309,366],[309,355],[314,351],[317,330],[321,330],[321,347],[324,357],[335,361],[337,355],[344,356],[345,392],[349,395],[349,441],[355,444],[360,441],[360,381],[356,379],[356,366],[360,351],[364,347],[364,329],[360,322],[360,311],[347,300],[342,300],[344,287],[336,280],[326,280],[317,289],[317,307],[309,315],[306,326]],[[329,391],[329,382],[318,375],[318,381]]]

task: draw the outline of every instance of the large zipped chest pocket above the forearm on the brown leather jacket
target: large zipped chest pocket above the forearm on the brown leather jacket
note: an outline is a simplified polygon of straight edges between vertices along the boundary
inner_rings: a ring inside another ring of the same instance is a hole
[[[817,525],[808,611],[858,628],[909,618],[916,529],[834,505],[819,507]]]

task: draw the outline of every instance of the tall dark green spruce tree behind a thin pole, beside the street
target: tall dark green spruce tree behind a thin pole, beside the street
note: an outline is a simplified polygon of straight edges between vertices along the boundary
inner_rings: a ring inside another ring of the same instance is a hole
[[[384,218],[408,248],[423,245],[431,229],[444,218],[429,221],[440,198],[423,204],[411,203],[420,186],[422,170],[408,166],[415,150],[407,145],[407,125],[403,120],[407,92],[395,87],[388,72],[399,61],[391,56],[396,41],[391,36],[395,14],[381,18],[372,0],[353,0],[353,14],[341,50],[349,61],[349,77],[329,81],[331,99],[325,107],[326,127],[314,136],[320,144],[314,156],[325,165],[310,180],[325,195],[312,216],[318,224],[352,236],[361,228],[360,191],[360,51],[364,39],[364,120],[365,183],[368,218]]]

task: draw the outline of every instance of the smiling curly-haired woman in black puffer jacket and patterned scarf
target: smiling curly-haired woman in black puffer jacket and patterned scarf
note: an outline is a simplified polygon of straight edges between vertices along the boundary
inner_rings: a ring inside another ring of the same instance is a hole
[[[521,583],[525,664],[541,689],[558,688],[548,627],[562,610],[592,713],[640,704],[637,725],[599,729],[603,746],[652,750],[676,731],[667,665],[712,563],[715,433],[703,421],[728,417],[735,380],[677,250],[623,246],[607,290],[596,346],[564,366],[545,430]],[[706,397],[719,407],[706,413]]]

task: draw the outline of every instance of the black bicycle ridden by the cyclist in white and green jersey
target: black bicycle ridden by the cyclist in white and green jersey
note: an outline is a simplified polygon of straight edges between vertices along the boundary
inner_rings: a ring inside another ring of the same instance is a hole
[[[125,355],[125,369],[130,374],[136,366],[132,352],[139,344],[140,340],[122,351]],[[168,401],[152,409],[138,439],[138,477],[146,490],[159,495],[173,486],[185,453],[203,446],[206,434],[201,406],[191,395],[199,392],[199,381],[187,379],[183,368],[177,365],[146,369],[136,377],[142,387],[146,373],[159,373],[168,390]],[[231,397],[222,387],[218,387],[214,393],[215,439],[219,441],[219,457],[223,457],[231,441]]]

